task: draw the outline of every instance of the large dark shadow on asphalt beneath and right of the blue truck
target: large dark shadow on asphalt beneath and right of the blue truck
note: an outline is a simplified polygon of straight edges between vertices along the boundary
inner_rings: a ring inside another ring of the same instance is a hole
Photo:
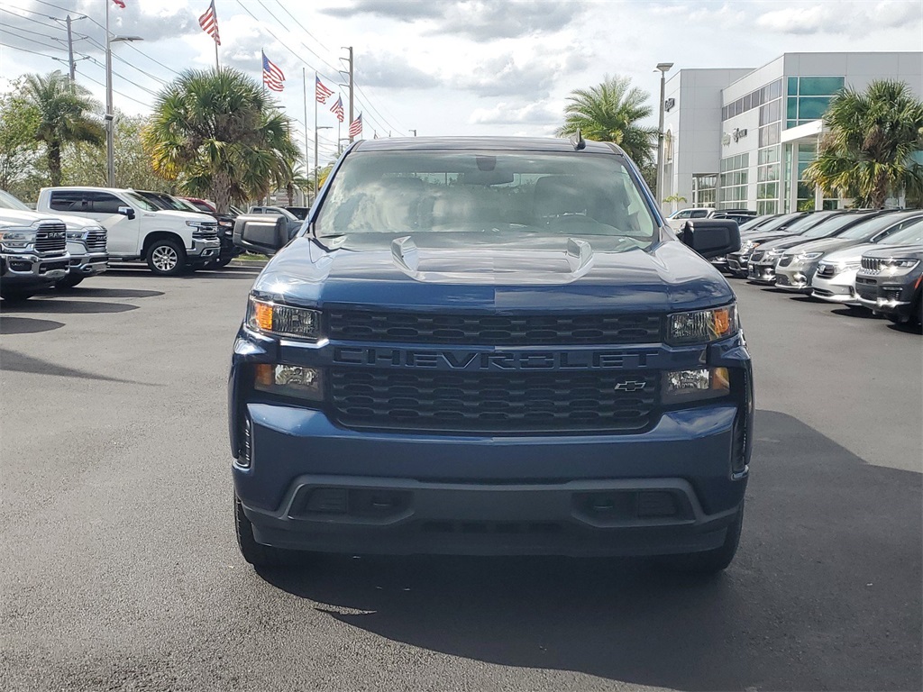
[[[717,578],[428,556],[259,574],[342,623],[476,661],[681,690],[923,688],[921,475],[780,412],[756,434],[740,550]]]

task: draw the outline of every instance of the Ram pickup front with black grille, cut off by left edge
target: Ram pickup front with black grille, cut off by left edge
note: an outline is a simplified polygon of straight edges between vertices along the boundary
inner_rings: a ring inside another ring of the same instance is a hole
[[[70,269],[64,221],[30,209],[0,209],[0,297],[20,301]]]

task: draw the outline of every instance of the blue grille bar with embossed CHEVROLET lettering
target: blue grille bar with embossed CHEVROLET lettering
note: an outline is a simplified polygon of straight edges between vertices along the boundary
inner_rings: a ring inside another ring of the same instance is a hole
[[[636,370],[651,367],[656,355],[656,351],[408,351],[339,346],[333,350],[333,362],[436,370]]]

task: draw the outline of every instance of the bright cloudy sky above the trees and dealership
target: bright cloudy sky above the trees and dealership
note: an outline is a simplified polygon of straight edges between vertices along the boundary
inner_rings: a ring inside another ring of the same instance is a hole
[[[105,5],[111,0],[0,0],[0,88],[26,72],[66,70],[74,21],[78,81],[103,101]],[[150,112],[158,89],[189,67],[214,65],[198,27],[208,0],[125,0],[111,6],[114,99]],[[280,102],[304,142],[302,69],[334,90],[354,46],[355,113],[365,137],[551,134],[571,89],[628,75],[659,89],[653,66],[761,66],[785,52],[923,51],[920,0],[215,0],[222,65],[259,78],[260,50],[286,76]],[[319,106],[321,160],[337,121]],[[346,101],[345,91],[344,99]],[[652,103],[655,99],[652,99]],[[347,105],[348,109],[348,105]],[[347,111],[348,112],[348,111]],[[654,114],[655,117],[655,114]],[[342,136],[345,136],[345,127]]]

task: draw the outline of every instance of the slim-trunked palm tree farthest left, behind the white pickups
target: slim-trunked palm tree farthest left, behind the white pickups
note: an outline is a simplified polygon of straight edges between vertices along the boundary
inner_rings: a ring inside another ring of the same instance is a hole
[[[61,185],[61,149],[79,142],[99,146],[105,139],[102,125],[89,115],[98,104],[87,89],[71,82],[60,70],[44,77],[27,75],[23,95],[39,113],[35,139],[45,144],[51,184]]]

